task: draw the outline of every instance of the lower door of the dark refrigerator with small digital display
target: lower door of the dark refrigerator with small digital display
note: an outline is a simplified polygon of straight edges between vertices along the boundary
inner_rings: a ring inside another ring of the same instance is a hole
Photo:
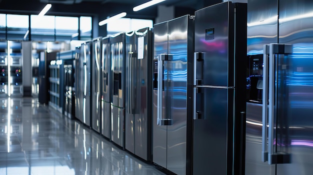
[[[228,126],[228,120],[233,116],[233,89],[196,87],[194,92],[195,109],[201,109],[201,119],[193,120],[193,174],[226,175],[227,130],[232,128]],[[197,94],[202,97],[200,101]]]

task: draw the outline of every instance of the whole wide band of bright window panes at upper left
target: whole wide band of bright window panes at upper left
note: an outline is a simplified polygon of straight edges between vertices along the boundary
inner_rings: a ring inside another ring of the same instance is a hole
[[[79,31],[78,20],[80,20]],[[29,28],[30,31],[28,30]],[[78,34],[79,32],[80,34]],[[32,14],[0,13],[0,39],[31,39],[36,41],[88,40],[92,39],[92,18],[90,16],[53,15],[44,15],[38,18],[38,15]]]

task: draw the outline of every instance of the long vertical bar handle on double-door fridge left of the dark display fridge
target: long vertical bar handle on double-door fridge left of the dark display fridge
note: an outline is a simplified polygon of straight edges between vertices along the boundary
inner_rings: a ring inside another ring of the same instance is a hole
[[[167,116],[162,117],[163,113],[163,63],[164,61],[172,60],[172,55],[170,54],[160,54],[157,59],[157,125],[172,125],[172,120]],[[165,89],[165,88],[164,88]],[[166,95],[166,93],[165,93]],[[165,98],[166,99],[166,98]]]

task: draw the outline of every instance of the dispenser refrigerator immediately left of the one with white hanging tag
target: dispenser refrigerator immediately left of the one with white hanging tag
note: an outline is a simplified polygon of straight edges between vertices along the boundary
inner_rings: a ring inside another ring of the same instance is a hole
[[[124,148],[125,143],[125,33],[110,38],[111,49],[111,140]]]

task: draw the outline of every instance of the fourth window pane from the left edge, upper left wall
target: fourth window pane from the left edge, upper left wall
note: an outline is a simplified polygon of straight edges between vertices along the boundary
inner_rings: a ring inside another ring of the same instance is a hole
[[[55,16],[55,39],[77,40],[78,17]]]

